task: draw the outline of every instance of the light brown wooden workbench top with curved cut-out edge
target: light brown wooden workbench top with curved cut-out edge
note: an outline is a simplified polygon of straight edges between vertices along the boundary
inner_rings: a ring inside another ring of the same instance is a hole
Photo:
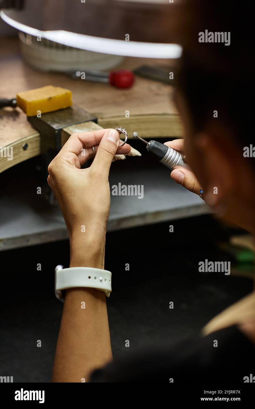
[[[116,69],[132,70],[155,62],[157,60],[150,58],[126,58]],[[169,61],[161,60],[161,63]],[[1,98],[12,98],[17,92],[55,85],[72,90],[76,105],[96,115],[98,124],[103,128],[124,126],[130,135],[135,130],[144,138],[180,137],[183,134],[170,85],[136,76],[133,88],[120,90],[108,84],[74,80],[65,74],[38,72],[22,61],[16,38],[2,39],[0,67]],[[129,111],[129,118],[125,117],[126,111]],[[23,151],[22,145],[27,137],[30,137],[30,145],[27,151]],[[5,146],[13,146],[13,152],[15,148],[15,159],[7,161],[6,157],[0,157],[0,172],[40,154],[38,133],[19,108],[0,109],[0,147]]]

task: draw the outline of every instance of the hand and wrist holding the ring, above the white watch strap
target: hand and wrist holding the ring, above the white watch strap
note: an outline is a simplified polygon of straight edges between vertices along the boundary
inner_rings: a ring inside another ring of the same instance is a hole
[[[81,169],[90,157],[91,166]],[[110,211],[108,175],[117,153],[130,152],[128,144],[119,148],[114,129],[73,134],[49,164],[48,183],[63,213],[70,238],[71,261],[75,265],[103,267],[106,223]],[[90,265],[88,265],[90,264]]]

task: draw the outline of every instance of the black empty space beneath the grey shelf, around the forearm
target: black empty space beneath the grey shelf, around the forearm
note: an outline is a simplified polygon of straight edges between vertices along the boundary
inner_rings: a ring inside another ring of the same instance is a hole
[[[136,348],[153,349],[190,336],[252,291],[251,279],[232,272],[229,276],[198,272],[198,263],[205,258],[231,260],[217,244],[219,238],[227,241],[230,233],[212,216],[198,216],[107,234],[114,360]],[[13,382],[50,382],[63,308],[54,297],[54,268],[68,266],[68,241],[1,252],[0,259],[0,373],[13,376]],[[42,271],[37,271],[37,263]],[[125,271],[126,263],[130,271]]]

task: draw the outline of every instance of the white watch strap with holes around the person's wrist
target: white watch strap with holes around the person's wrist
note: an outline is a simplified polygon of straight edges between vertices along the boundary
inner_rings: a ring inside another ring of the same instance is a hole
[[[61,290],[74,287],[97,288],[103,291],[107,297],[112,292],[112,273],[107,270],[93,267],[70,267],[63,268],[57,265],[55,268],[55,295],[60,301],[63,300]]]

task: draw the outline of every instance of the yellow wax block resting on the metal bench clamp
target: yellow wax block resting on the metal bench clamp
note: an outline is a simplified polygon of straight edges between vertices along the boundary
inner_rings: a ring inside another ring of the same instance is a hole
[[[38,114],[38,111],[43,114],[71,106],[72,91],[47,85],[35,90],[19,92],[17,94],[17,105],[28,117],[34,117]]]

